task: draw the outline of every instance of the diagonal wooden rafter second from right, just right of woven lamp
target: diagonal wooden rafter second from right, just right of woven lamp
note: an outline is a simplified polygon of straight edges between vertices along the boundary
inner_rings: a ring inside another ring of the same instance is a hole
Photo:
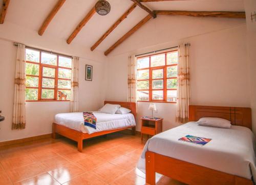
[[[106,33],[104,33],[104,35],[102,35],[100,39],[91,47],[91,50],[93,51],[106,37],[108,37],[108,35],[127,17],[127,15],[129,15],[136,8],[136,6],[137,4],[134,3],[131,8],[124,12],[124,14],[112,25],[112,27],[110,27],[110,29],[106,31]]]

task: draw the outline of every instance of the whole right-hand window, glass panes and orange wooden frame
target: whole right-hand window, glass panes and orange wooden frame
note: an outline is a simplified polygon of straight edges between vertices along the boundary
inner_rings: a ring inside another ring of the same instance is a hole
[[[137,58],[137,100],[176,102],[178,50]]]

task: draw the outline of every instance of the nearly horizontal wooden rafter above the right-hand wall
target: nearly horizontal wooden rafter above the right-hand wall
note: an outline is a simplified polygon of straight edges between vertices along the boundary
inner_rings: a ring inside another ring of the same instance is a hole
[[[186,15],[194,17],[245,18],[245,12],[196,12],[196,11],[156,11],[157,15]]]

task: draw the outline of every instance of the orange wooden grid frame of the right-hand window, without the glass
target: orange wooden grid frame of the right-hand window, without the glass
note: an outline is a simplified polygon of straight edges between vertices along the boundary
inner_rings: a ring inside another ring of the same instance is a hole
[[[152,54],[152,55],[147,55],[147,56],[142,56],[142,57],[137,58],[137,60],[138,59],[143,59],[143,58],[149,58],[150,59],[150,67],[137,69],[137,72],[140,71],[140,70],[147,70],[147,69],[149,70],[148,79],[137,80],[137,82],[149,81],[149,84],[148,84],[149,89],[139,89],[139,90],[137,89],[137,91],[148,91],[149,92],[148,101],[147,100],[137,100],[138,102],[176,103],[176,101],[167,101],[167,91],[168,90],[176,90],[177,91],[177,88],[176,89],[167,88],[167,80],[168,79],[177,79],[177,76],[176,77],[167,77],[167,67],[178,66],[178,63],[167,65],[167,54],[169,54],[171,52],[176,52],[176,51],[178,51],[178,49],[174,49],[174,50],[171,50],[171,51],[160,52],[158,54]],[[162,55],[162,54],[165,54],[165,65],[151,67],[151,57],[154,57],[154,56],[157,56],[157,55]],[[178,60],[178,62],[179,62],[179,60]],[[157,70],[157,69],[163,69],[163,78],[156,78],[156,79],[152,78],[153,70]],[[163,89],[153,89],[152,84],[153,84],[154,80],[163,80]],[[137,84],[136,84],[136,86],[137,86]],[[163,91],[163,99],[162,100],[152,99],[153,91],[157,91],[157,90],[162,90]]]

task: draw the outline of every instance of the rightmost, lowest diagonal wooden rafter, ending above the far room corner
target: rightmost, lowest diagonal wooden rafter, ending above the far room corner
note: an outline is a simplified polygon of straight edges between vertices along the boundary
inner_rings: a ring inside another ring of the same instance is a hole
[[[108,50],[104,52],[105,56],[109,55],[118,45],[120,45],[125,39],[130,37],[134,32],[136,32],[142,25],[144,25],[152,16],[149,14],[144,19],[142,19],[138,24],[136,24],[129,32],[122,36],[115,44],[113,44]]]

